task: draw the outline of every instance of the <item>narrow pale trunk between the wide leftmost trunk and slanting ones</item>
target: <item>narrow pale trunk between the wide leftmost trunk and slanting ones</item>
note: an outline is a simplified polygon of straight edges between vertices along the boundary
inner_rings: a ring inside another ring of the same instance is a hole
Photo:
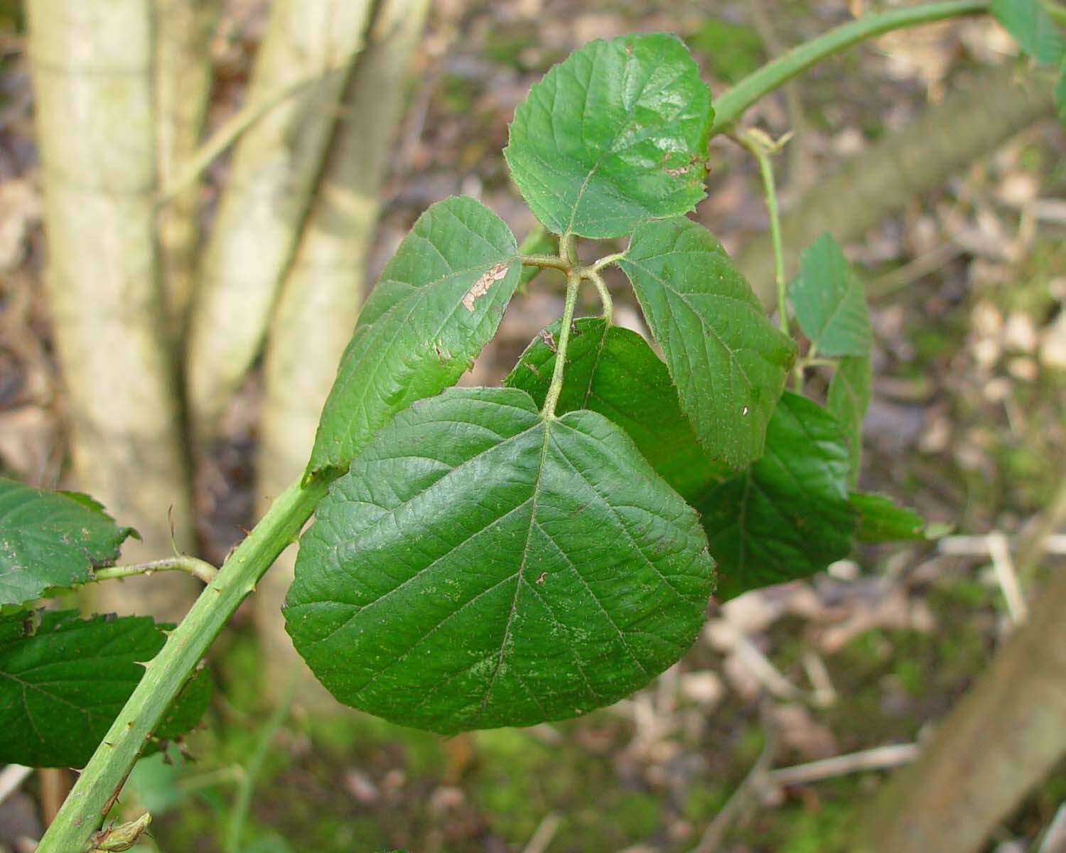
[[[156,149],[159,183],[169,187],[192,159],[211,94],[211,36],[220,0],[156,0]],[[195,274],[200,186],[159,211],[160,270],[171,337],[180,347]]]

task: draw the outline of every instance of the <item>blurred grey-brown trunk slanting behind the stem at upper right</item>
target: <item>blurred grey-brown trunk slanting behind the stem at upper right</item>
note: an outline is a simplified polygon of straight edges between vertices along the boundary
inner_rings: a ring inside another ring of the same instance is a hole
[[[1016,79],[1011,66],[982,73],[796,199],[781,220],[787,273],[823,231],[842,243],[861,237],[1053,109],[1049,82],[1034,76]],[[769,237],[745,245],[737,262],[762,304],[773,304],[774,254]]]

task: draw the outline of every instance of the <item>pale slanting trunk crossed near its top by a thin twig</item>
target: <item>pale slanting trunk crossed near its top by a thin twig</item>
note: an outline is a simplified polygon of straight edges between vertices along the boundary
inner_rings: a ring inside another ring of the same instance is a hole
[[[248,103],[279,102],[238,141],[192,308],[187,391],[209,441],[262,343],[362,46],[370,0],[274,0]],[[294,85],[306,85],[292,92]],[[280,93],[289,92],[288,97]]]

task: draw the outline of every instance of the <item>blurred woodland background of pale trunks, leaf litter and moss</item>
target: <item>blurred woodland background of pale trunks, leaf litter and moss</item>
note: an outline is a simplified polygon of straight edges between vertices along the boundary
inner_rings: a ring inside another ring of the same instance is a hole
[[[465,193],[519,239],[534,225],[501,148],[553,63],[671,31],[717,94],[892,5],[0,1],[0,474],[93,493],[142,532],[130,561],[173,535],[221,562],[298,474],[361,299],[415,219]],[[340,708],[293,662],[289,554],[212,648],[203,726],[133,771],[115,814],[151,810],[138,851],[853,849],[892,769],[1062,574],[1066,139],[1048,81],[987,16],[854,48],[743,120],[794,134],[775,158],[789,274],[829,230],[867,285],[860,486],[951,532],[712,601],[683,660],[612,708],[447,740]],[[755,164],[725,136],[710,157],[695,216],[768,294]],[[542,274],[463,382],[498,384],[561,310]],[[157,577],[96,603],[179,618],[195,592]],[[1063,707],[1066,681],[1028,683]],[[1064,751],[1049,736],[1040,780],[976,847],[925,849],[1066,850]],[[0,849],[32,849],[71,778],[0,785]]]

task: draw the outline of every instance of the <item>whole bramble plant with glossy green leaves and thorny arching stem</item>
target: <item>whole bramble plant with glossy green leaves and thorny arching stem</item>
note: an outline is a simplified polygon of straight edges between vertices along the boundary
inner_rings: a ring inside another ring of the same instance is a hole
[[[344,704],[442,734],[613,703],[684,654],[715,589],[730,598],[823,570],[857,541],[925,536],[911,511],[854,490],[871,382],[862,286],[827,235],[786,281],[778,146],[734,124],[862,38],[989,10],[1035,59],[1064,62],[1038,3],[955,0],[860,18],[741,80],[716,110],[673,35],[596,41],[553,67],[503,152],[544,230],[520,248],[468,197],[423,213],[362,309],[305,474],[217,573],[184,556],[115,565],[132,531],[99,504],[0,481],[0,758],[85,765],[38,850],[135,841],[147,816],[97,832],[101,820],[136,758],[196,724],[198,662],[312,513],[285,608],[296,649]],[[776,325],[685,215],[725,131],[760,165]],[[581,238],[628,246],[583,262]],[[613,324],[612,264],[662,358]],[[543,269],[566,278],[559,321],[504,387],[450,387]],[[575,319],[585,286],[602,313]],[[834,370],[825,406],[803,396],[813,366]],[[176,628],[33,609],[169,569],[207,584]]]

